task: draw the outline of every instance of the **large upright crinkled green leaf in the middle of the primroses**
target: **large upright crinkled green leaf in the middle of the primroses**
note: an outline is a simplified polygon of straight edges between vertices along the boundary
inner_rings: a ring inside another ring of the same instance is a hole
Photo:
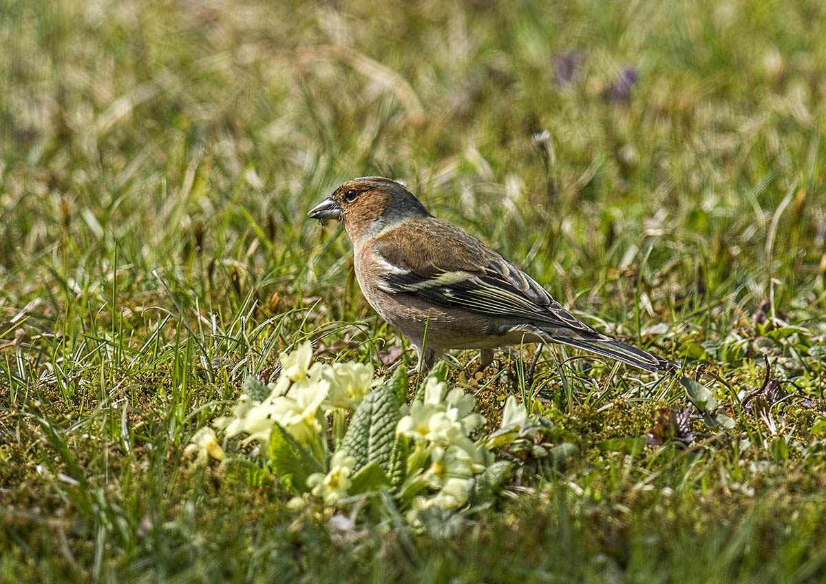
[[[356,459],[354,470],[376,462],[388,476],[393,474],[393,444],[399,418],[398,400],[388,387],[376,387],[364,397],[341,441],[341,448]]]

